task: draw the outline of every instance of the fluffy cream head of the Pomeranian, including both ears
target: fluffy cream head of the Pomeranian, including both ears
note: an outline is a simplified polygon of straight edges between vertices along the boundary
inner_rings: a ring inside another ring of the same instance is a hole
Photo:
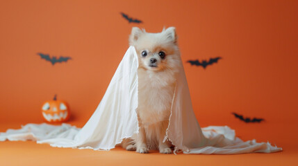
[[[172,70],[177,66],[179,48],[176,44],[175,28],[161,33],[146,33],[134,27],[129,39],[138,53],[139,67],[150,71]]]

